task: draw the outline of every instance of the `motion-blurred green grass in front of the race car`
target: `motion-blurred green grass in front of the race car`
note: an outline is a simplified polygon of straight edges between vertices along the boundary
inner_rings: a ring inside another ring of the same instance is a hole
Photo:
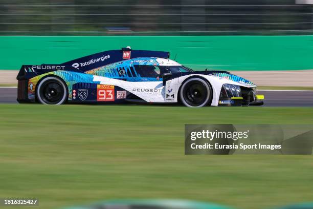
[[[185,123],[313,124],[313,108],[0,105],[0,197],[38,198],[36,208],[117,198],[247,209],[313,200],[312,156],[185,156]]]

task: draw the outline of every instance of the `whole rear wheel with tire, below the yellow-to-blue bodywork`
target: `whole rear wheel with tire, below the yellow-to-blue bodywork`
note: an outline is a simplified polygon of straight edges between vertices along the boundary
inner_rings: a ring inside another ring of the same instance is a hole
[[[45,77],[36,88],[36,97],[44,105],[61,105],[68,98],[68,88],[61,78]]]

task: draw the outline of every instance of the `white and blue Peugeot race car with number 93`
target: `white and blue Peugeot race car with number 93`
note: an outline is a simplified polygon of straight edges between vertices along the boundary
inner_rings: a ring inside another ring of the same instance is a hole
[[[187,107],[263,105],[256,85],[226,71],[193,71],[169,52],[104,51],[60,65],[23,65],[18,102],[178,103]]]

